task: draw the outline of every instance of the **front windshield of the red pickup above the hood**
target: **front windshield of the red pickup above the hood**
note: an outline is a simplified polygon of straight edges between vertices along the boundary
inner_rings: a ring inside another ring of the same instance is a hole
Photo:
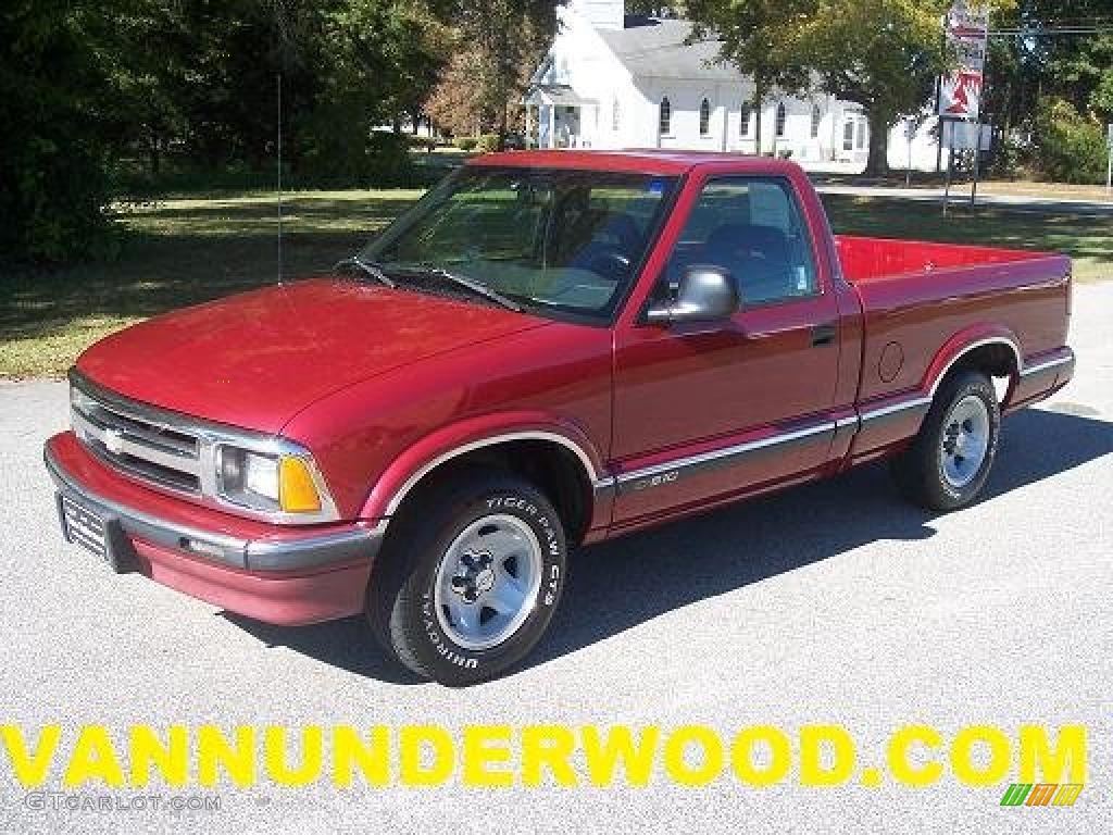
[[[535,313],[609,320],[676,178],[465,166],[359,257],[386,274],[444,271]]]

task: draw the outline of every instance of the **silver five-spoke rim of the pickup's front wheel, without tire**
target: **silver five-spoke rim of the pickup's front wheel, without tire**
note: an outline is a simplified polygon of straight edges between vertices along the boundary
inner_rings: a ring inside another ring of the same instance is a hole
[[[460,647],[496,647],[519,630],[541,589],[543,560],[533,530],[498,513],[464,528],[436,570],[433,602],[444,633]]]

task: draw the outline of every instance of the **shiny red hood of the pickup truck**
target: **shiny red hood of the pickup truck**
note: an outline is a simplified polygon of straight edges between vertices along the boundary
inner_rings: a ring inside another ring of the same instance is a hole
[[[277,433],[368,377],[545,320],[481,304],[317,278],[188,307],[120,331],[78,369],[145,403]]]

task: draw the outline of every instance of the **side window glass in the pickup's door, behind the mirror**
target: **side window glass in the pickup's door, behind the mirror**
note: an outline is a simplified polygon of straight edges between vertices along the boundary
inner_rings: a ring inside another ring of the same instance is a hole
[[[729,272],[743,307],[819,292],[810,235],[791,186],[779,178],[709,181],[666,267],[671,288],[692,264],[713,264]]]

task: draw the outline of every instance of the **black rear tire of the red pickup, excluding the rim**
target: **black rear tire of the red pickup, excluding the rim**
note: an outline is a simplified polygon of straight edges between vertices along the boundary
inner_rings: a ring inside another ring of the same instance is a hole
[[[943,446],[952,411],[969,396],[977,397],[985,405],[988,443],[973,478],[956,485],[945,473]],[[993,382],[981,372],[957,372],[943,381],[912,444],[893,459],[893,479],[905,498],[916,504],[942,511],[962,508],[974,501],[985,487],[997,454],[999,434],[1001,406]]]

